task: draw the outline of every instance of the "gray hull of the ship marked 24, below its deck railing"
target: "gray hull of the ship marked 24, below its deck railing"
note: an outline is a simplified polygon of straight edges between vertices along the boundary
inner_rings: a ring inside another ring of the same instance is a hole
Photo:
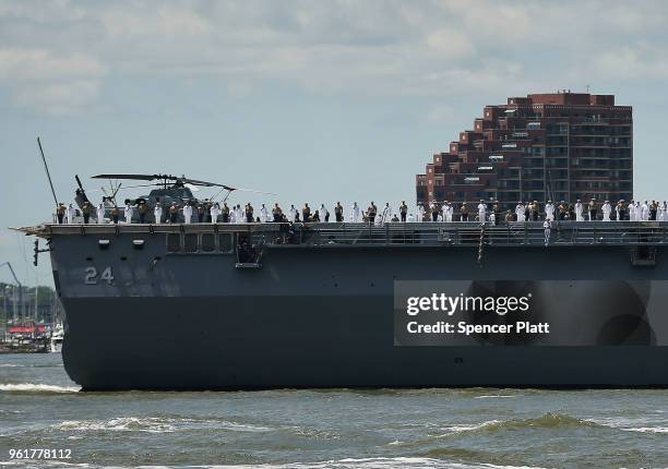
[[[627,244],[489,245],[482,258],[465,244],[279,244],[247,268],[234,253],[170,254],[165,233],[96,229],[50,236],[64,366],[84,389],[668,385],[668,245],[642,265]],[[562,337],[403,345],[406,280],[541,282],[540,314]],[[628,330],[601,333],[618,320]]]

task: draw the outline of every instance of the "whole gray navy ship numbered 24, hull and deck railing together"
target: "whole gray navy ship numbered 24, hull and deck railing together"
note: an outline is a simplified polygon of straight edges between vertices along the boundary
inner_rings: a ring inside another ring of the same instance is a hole
[[[85,390],[668,385],[668,224],[46,224]]]

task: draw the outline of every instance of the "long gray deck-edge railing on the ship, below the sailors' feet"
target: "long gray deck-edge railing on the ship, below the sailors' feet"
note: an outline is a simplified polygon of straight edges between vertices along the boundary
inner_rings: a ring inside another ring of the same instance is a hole
[[[237,233],[250,236],[253,244],[326,245],[544,245],[542,223],[510,223],[499,226],[478,223],[368,224],[118,224],[43,225],[19,230],[50,238],[55,234],[141,233]],[[561,221],[549,233],[549,245],[653,245],[668,243],[668,223],[657,221]]]

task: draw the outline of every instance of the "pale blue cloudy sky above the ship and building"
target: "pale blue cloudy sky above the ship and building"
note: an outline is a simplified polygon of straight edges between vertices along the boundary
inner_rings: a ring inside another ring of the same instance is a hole
[[[635,196],[664,200],[667,84],[660,0],[0,0],[0,264],[52,281],[7,229],[50,219],[37,136],[65,203],[74,175],[95,200],[95,173],[170,172],[277,194],[232,195],[255,207],[413,205],[485,105],[588,86],[633,106]]]

